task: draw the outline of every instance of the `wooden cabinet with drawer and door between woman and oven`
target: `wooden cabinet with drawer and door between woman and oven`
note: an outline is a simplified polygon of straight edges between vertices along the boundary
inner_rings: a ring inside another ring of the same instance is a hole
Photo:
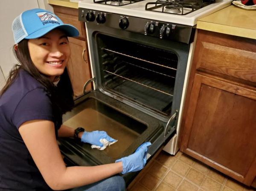
[[[70,75],[74,97],[83,94],[83,86],[90,78],[90,60],[88,55],[88,46],[86,39],[86,30],[83,22],[78,20],[78,9],[53,5],[54,13],[66,24],[71,24],[79,30],[79,36],[68,38],[71,49],[70,61],[67,64],[67,70]],[[86,87],[89,91],[91,84]]]

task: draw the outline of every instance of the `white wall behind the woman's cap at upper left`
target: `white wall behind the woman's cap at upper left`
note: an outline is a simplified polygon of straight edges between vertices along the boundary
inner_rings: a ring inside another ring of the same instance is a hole
[[[53,11],[52,7],[47,4],[47,0],[0,0],[0,67],[5,78],[8,77],[12,66],[17,63],[12,54],[12,46],[14,45],[12,21],[21,12],[34,8]],[[0,71],[0,83],[2,81],[3,76]]]

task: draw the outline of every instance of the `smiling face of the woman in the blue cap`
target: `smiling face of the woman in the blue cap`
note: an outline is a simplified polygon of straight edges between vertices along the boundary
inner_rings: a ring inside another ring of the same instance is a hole
[[[29,39],[28,48],[35,67],[52,81],[64,72],[70,58],[70,46],[64,32],[54,29],[40,38]]]

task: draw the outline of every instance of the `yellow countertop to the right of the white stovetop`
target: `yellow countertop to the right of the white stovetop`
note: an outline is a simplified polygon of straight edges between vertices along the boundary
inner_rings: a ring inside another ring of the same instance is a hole
[[[197,29],[256,39],[256,10],[244,10],[234,5],[203,17]]]

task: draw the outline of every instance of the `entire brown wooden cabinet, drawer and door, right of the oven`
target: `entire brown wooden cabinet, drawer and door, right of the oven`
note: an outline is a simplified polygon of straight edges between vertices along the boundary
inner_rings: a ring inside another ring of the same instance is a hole
[[[244,183],[256,178],[256,40],[198,30],[179,145]]]

